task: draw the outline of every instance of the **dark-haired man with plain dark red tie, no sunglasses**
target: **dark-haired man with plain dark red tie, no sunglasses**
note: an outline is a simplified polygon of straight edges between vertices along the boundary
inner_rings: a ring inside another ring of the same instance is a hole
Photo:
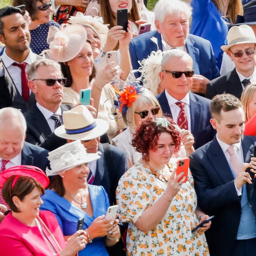
[[[24,11],[7,6],[0,9],[0,41],[5,45],[0,59],[0,108],[12,106],[25,112],[34,104],[26,71],[41,56],[30,48],[30,32]]]

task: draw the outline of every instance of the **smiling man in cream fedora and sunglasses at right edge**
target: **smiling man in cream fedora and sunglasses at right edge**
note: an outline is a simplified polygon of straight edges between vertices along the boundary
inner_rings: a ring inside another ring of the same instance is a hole
[[[256,75],[256,38],[252,28],[248,25],[232,26],[228,32],[228,45],[222,45],[235,68],[207,84],[206,97],[212,99],[224,92],[241,98],[250,79]]]

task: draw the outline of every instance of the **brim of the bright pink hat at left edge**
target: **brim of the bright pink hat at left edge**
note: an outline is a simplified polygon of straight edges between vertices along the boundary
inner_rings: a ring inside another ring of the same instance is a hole
[[[49,178],[43,173],[43,171],[34,169],[34,166],[14,166],[4,170],[0,173],[0,188],[3,188],[4,182],[12,175],[27,176],[34,178],[38,181],[44,188],[49,186]]]

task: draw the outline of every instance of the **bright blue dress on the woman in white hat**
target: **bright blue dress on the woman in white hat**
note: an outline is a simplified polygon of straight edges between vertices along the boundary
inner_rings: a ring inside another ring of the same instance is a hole
[[[87,215],[87,213],[78,207],[72,205],[72,203],[59,196],[53,190],[45,190],[45,195],[42,196],[44,203],[41,205],[40,209],[53,212],[59,222],[64,236],[69,236],[75,233],[79,218],[84,217],[83,229],[87,229],[95,218],[106,214],[107,208],[109,207],[109,199],[104,188],[102,186],[94,185],[88,185],[88,188],[93,208],[92,217]],[[86,248],[79,251],[79,256],[88,255],[109,256],[105,248],[105,237],[94,238],[91,244],[88,243]]]

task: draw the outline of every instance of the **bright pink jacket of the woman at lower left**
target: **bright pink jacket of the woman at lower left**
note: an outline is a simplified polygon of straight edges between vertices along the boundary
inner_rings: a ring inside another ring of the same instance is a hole
[[[50,211],[40,211],[40,217],[53,233],[60,247],[65,247],[63,234],[57,219]],[[45,234],[48,232],[42,226]],[[60,250],[50,235],[51,245],[59,255]],[[26,226],[9,213],[0,224],[0,256],[51,256],[53,251],[41,234],[38,226]]]

